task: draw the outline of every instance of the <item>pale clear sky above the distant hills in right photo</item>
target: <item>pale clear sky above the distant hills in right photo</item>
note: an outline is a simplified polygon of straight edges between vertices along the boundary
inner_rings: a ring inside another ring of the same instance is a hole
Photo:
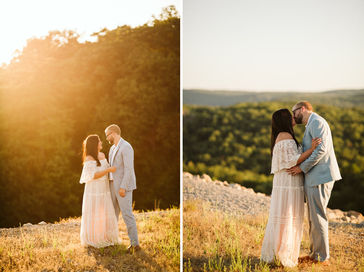
[[[363,0],[183,0],[183,89],[363,88]]]

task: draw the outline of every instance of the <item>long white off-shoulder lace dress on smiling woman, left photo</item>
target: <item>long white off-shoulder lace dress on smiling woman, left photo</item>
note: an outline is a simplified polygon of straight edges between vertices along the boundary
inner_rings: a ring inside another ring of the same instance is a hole
[[[109,167],[106,159],[86,161],[80,183],[85,184],[81,217],[81,244],[84,247],[107,247],[119,243],[118,221],[112,204],[108,174],[94,179],[96,172]]]

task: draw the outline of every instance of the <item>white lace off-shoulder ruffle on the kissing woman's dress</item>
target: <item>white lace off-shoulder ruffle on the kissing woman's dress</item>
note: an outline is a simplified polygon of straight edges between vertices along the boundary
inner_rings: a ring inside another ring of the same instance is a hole
[[[270,173],[278,172],[281,169],[288,169],[297,164],[301,156],[301,147],[297,149],[294,140],[283,140],[274,146],[272,157],[272,169]]]

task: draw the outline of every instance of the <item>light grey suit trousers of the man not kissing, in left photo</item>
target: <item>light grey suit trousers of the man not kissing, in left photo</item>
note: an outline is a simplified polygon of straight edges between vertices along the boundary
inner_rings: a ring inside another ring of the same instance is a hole
[[[114,183],[110,181],[110,191],[112,197],[112,203],[114,204],[116,219],[119,220],[119,213],[123,217],[126,225],[126,231],[128,233],[130,244],[139,245],[137,223],[132,212],[132,196],[133,191],[126,191],[125,196],[121,197],[119,192],[116,191]]]

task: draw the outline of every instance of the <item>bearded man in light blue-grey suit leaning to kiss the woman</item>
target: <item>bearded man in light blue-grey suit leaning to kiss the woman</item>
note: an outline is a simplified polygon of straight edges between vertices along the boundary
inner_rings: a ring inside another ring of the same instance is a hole
[[[330,265],[329,221],[326,207],[335,181],[341,179],[337,165],[331,130],[325,119],[313,112],[312,105],[302,101],[292,108],[296,124],[306,123],[302,140],[303,151],[311,147],[312,138],[321,138],[321,144],[301,164],[287,170],[289,174],[305,173],[304,190],[307,203],[309,224],[308,256],[299,257],[299,261],[311,261],[312,264]]]

